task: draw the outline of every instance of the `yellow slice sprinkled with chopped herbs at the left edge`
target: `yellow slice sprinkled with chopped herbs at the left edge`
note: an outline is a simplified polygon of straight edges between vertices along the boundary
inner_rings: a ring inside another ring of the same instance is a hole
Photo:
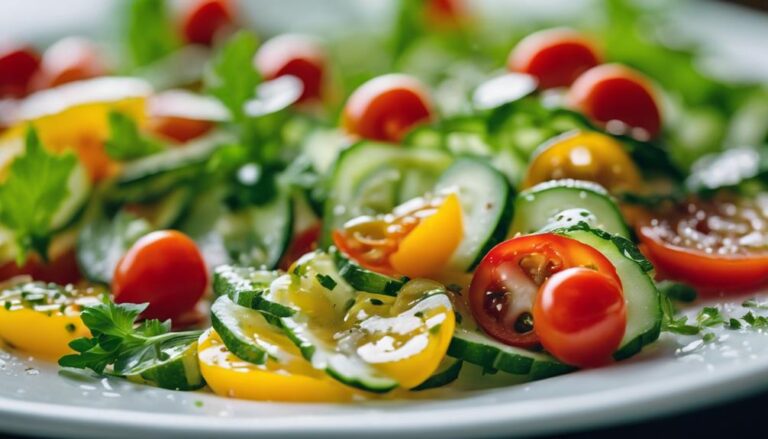
[[[91,333],[80,310],[97,303],[96,290],[26,282],[0,295],[0,339],[15,349],[44,359],[71,354],[68,344]]]

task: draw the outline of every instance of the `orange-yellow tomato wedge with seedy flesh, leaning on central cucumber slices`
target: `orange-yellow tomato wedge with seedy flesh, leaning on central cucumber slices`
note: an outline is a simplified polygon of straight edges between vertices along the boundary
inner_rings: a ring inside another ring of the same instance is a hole
[[[336,247],[363,267],[413,278],[439,273],[462,237],[455,194],[444,200],[413,200],[390,215],[358,218],[333,232]]]

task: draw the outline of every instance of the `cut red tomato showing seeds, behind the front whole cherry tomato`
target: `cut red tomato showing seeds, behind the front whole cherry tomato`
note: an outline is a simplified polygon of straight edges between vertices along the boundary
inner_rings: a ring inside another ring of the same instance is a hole
[[[512,238],[480,261],[469,286],[469,306],[478,325],[502,343],[539,345],[532,314],[542,285],[555,273],[589,267],[621,285],[616,269],[602,253],[552,233]]]

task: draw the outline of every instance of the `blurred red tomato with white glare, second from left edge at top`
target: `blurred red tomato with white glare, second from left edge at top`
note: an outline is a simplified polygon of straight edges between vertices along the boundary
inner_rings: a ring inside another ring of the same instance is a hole
[[[42,90],[106,73],[101,54],[92,42],[79,37],[64,38],[43,53],[40,70],[32,80],[32,88]]]

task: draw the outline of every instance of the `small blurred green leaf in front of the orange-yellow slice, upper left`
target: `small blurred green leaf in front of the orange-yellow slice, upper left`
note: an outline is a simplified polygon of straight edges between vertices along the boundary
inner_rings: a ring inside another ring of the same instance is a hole
[[[163,150],[160,142],[139,133],[136,122],[130,116],[117,111],[109,113],[109,139],[104,148],[115,160],[133,160]]]

